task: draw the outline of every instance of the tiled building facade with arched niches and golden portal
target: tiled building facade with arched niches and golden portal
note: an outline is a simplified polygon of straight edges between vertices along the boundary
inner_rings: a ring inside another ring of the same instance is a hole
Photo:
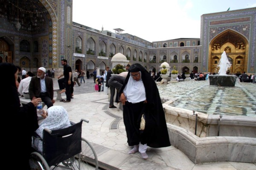
[[[130,64],[138,62],[148,71],[159,71],[168,62],[179,72],[213,73],[226,51],[230,73],[256,72],[256,8],[203,14],[200,38],[148,42],[122,34],[120,28],[113,33],[74,23],[72,0],[0,2],[0,62],[26,70],[43,66],[55,68],[58,75],[62,58],[73,70],[104,70],[112,66],[114,54],[122,53]]]

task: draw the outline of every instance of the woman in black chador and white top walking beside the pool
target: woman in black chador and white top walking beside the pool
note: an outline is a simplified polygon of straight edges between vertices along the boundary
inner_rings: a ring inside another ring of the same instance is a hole
[[[137,63],[131,65],[119,94],[123,104],[123,119],[128,145],[134,146],[129,154],[139,151],[142,158],[147,159],[147,146],[155,148],[170,146],[157,85],[142,65]],[[143,113],[145,129],[140,130]]]

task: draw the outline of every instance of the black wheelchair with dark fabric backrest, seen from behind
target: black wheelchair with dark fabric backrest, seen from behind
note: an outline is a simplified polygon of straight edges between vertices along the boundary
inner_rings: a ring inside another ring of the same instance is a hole
[[[32,152],[30,167],[32,170],[98,170],[98,158],[93,146],[81,137],[82,122],[70,122],[71,126],[58,130],[44,129],[43,153]]]

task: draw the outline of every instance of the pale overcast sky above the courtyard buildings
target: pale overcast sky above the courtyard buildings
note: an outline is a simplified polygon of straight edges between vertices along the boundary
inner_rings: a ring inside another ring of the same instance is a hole
[[[255,0],[73,0],[73,21],[153,42],[200,38],[202,14],[252,7]]]

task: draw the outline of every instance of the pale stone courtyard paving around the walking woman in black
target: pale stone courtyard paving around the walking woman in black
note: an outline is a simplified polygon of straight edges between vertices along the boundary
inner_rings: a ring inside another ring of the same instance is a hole
[[[186,83],[186,81],[184,82]],[[182,85],[177,84],[176,86]],[[184,87],[182,85],[181,87]],[[54,88],[58,88],[54,79]],[[161,86],[168,88],[168,85]],[[160,89],[160,91],[162,91]],[[57,94],[55,93],[55,97]],[[66,99],[65,94],[62,98]],[[140,153],[128,154],[131,149],[127,144],[122,111],[108,108],[108,94],[95,92],[93,79],[85,79],[81,86],[75,85],[74,99],[69,103],[56,100],[54,105],[67,109],[73,122],[88,119],[83,123],[82,137],[90,141],[98,155],[99,164],[105,169],[120,170],[256,170],[256,164],[239,162],[212,162],[194,164],[176,147],[148,148],[148,159],[141,159]],[[45,109],[45,108],[44,108]]]

